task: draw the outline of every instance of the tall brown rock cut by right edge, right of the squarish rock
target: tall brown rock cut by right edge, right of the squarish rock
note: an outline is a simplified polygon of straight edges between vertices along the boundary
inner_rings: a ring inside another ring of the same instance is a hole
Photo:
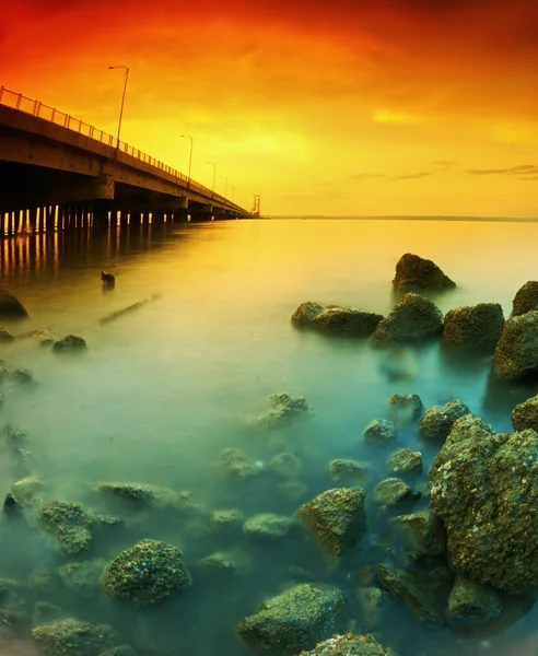
[[[538,311],[511,317],[504,323],[493,366],[504,380],[538,375]]]

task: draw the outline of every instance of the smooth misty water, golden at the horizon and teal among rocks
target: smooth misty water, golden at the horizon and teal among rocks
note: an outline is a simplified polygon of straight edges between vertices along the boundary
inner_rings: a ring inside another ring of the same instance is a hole
[[[422,452],[424,473],[409,480],[423,488],[436,449],[416,426],[389,446],[366,445],[362,437],[371,420],[387,418],[389,396],[419,394],[425,408],[459,398],[495,430],[511,431],[512,409],[534,390],[500,387],[489,362],[456,359],[438,342],[388,355],[364,340],[296,331],[290,316],[304,301],[386,315],[397,298],[396,261],[410,251],[433,259],[457,282],[454,291],[431,296],[443,313],[498,302],[507,317],[515,292],[536,279],[537,238],[533,223],[334,219],[131,225],[4,239],[2,285],[31,317],[4,321],[20,338],[0,344],[0,359],[31,370],[37,385],[3,385],[2,425],[27,431],[32,456],[21,464],[2,447],[0,490],[37,475],[47,500],[79,502],[127,524],[95,531],[91,551],[67,557],[50,536],[3,516],[0,577],[26,584],[36,571],[52,573],[49,588],[28,588],[30,611],[35,601],[51,601],[81,620],[110,623],[120,642],[141,656],[252,653],[235,634],[237,622],[290,581],[307,579],[297,567],[346,593],[342,629],[359,631],[360,567],[377,564],[385,552],[393,562],[397,548],[384,535],[386,516],[369,496],[370,537],[339,569],[327,567],[299,528],[260,543],[241,527],[226,536],[215,532],[210,513],[237,508],[245,518],[293,516],[302,503],[335,487],[329,478],[335,458],[371,462],[361,482],[370,494],[389,476],[387,457],[402,446]],[[102,269],[115,273],[114,289],[103,286]],[[138,311],[100,321],[155,294]],[[87,351],[55,355],[25,337],[37,328],[58,337],[80,335]],[[304,396],[313,413],[283,429],[254,429],[250,420],[280,391]],[[260,476],[230,477],[220,460],[227,447],[264,464]],[[270,469],[282,452],[302,462],[300,497]],[[101,482],[188,492],[188,503],[167,509],[112,503],[95,492]],[[425,505],[422,499],[401,512]],[[143,538],[178,547],[191,575],[189,588],[161,606],[136,610],[112,601],[98,581],[81,596],[55,577],[66,562],[110,561]],[[199,566],[217,551],[235,561],[233,576]],[[491,629],[463,633],[423,626],[395,601],[376,634],[401,656],[516,654],[537,619],[524,606],[514,601]],[[492,652],[491,641],[504,651]]]

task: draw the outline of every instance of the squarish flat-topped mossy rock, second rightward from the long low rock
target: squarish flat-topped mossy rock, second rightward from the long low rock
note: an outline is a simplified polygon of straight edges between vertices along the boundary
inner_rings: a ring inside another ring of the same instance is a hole
[[[492,353],[503,326],[503,308],[499,303],[467,305],[445,315],[443,339],[455,347]]]

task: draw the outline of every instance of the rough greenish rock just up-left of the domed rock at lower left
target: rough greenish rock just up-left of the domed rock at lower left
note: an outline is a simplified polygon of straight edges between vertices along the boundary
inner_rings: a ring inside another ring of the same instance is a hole
[[[80,553],[90,549],[91,519],[78,503],[44,503],[39,507],[38,518],[47,530],[56,534],[58,543],[66,553]]]

